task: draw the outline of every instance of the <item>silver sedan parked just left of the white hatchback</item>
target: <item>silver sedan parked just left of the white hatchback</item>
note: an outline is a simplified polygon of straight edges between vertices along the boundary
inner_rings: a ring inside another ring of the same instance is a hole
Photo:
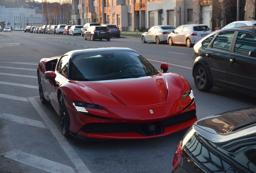
[[[167,36],[175,30],[171,25],[152,26],[147,32],[141,34],[142,43],[156,42],[157,44],[167,41]]]

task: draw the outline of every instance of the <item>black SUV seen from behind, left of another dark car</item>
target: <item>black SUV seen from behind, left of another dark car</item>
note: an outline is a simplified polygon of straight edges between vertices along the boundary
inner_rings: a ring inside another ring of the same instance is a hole
[[[93,41],[95,39],[107,39],[107,41],[110,41],[110,38],[110,30],[106,26],[90,26],[84,33],[85,40],[91,39]]]

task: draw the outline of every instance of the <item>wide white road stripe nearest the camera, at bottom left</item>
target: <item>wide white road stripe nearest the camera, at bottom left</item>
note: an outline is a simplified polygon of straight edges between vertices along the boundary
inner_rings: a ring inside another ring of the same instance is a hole
[[[50,173],[75,173],[72,167],[63,165],[36,155],[24,153],[22,151],[13,150],[7,153],[2,153],[4,157],[24,163],[26,165],[50,172]]]

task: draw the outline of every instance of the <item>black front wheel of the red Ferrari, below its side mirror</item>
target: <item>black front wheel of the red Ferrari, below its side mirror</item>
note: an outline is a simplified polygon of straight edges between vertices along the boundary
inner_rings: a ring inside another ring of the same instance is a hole
[[[64,97],[62,94],[60,94],[60,97],[59,97],[59,108],[60,108],[60,124],[62,127],[62,133],[64,134],[64,136],[68,136],[70,120],[69,120],[68,111],[66,109],[66,105],[64,102]]]

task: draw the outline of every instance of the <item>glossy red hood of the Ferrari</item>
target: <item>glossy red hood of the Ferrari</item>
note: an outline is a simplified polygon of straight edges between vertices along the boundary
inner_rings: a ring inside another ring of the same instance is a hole
[[[116,108],[170,103],[184,94],[177,80],[169,75],[81,81],[78,86],[94,104]]]

